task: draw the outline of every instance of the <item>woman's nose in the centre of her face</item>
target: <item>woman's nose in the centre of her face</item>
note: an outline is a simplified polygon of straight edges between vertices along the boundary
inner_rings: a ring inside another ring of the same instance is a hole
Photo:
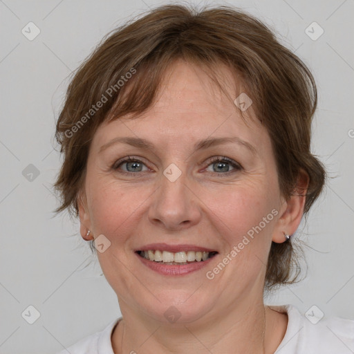
[[[151,223],[167,230],[183,230],[196,225],[201,220],[199,199],[187,185],[182,173],[171,182],[165,175],[160,178],[160,186],[153,194],[149,207]]]

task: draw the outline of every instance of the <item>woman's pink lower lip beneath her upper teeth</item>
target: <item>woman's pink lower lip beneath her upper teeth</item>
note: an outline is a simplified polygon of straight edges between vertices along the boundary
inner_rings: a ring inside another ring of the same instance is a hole
[[[192,272],[196,272],[196,270],[200,270],[201,268],[205,267],[210,263],[210,261],[212,261],[212,259],[216,257],[215,255],[212,258],[208,258],[206,261],[193,262],[189,264],[168,265],[155,261],[149,261],[148,259],[141,257],[137,253],[136,256],[140,259],[140,261],[142,261],[144,265],[149,267],[151,270],[154,270],[155,272],[164,275],[185,275]]]

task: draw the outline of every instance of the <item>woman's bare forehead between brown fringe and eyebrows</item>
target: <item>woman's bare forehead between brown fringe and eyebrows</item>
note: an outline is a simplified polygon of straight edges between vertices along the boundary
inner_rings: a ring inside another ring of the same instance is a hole
[[[250,119],[252,106],[242,113],[233,102],[242,92],[241,82],[235,82],[226,66],[218,67],[216,77],[223,90],[205,68],[178,60],[165,73],[147,111],[104,122],[95,140],[104,144],[117,136],[136,136],[166,147],[236,135],[252,145],[261,142],[266,132],[257,118]]]

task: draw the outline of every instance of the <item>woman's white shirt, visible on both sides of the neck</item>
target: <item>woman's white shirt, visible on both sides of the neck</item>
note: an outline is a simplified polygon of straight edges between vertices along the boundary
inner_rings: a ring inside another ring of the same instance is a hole
[[[331,317],[321,319],[317,324],[312,322],[292,305],[269,306],[281,313],[288,313],[286,334],[274,354],[353,354],[354,353],[354,320]],[[313,313],[310,313],[310,316]],[[101,332],[89,335],[76,344],[57,354],[114,354],[111,344],[111,333],[115,319]]]

